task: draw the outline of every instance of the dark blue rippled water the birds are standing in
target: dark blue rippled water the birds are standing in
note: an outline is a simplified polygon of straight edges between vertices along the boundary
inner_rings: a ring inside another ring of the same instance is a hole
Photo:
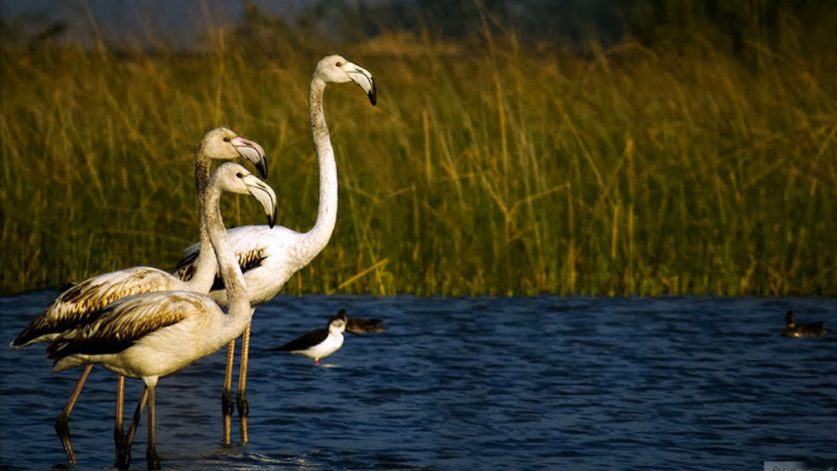
[[[53,423],[78,372],[53,374],[40,346],[5,347],[54,295],[0,298],[0,469],[65,461]],[[341,307],[389,330],[347,335],[325,367],[265,351]],[[280,297],[254,321],[250,443],[220,446],[219,353],[161,380],[158,449],[185,470],[837,461],[837,333],[781,337],[789,307],[837,331],[837,303],[822,299]],[[95,369],[71,421],[73,469],[110,467],[113,391]],[[142,427],[135,469],[144,439]]]

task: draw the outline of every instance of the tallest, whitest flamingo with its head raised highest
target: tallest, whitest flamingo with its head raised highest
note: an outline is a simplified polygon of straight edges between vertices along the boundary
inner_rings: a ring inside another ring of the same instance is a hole
[[[308,117],[311,135],[317,151],[320,168],[320,194],[317,220],[308,232],[296,232],[287,227],[240,226],[228,231],[233,251],[238,257],[247,293],[253,305],[269,301],[282,289],[286,281],[299,269],[308,265],[328,244],[337,220],[337,164],[334,149],[323,111],[323,94],[329,83],[354,82],[359,85],[374,106],[377,89],[372,74],[345,58],[332,55],[320,60],[311,77],[308,95]],[[194,271],[201,248],[195,244],[187,248],[175,267],[175,274],[188,280]],[[221,304],[227,302],[222,280],[216,276],[209,293]],[[241,365],[238,377],[237,407],[241,419],[241,442],[248,442],[247,415],[247,362],[250,350],[250,326],[244,329],[241,340]],[[235,356],[235,340],[227,348],[227,364],[221,406],[224,414],[224,444],[229,445],[232,420],[232,369]]]

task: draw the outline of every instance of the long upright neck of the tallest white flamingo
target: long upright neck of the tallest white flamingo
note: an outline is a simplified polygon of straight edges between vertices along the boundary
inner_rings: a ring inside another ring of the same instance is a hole
[[[320,78],[311,79],[308,95],[308,118],[311,123],[311,136],[320,167],[320,201],[317,208],[317,221],[305,234],[302,247],[304,263],[317,256],[328,244],[334,225],[337,222],[337,163],[334,160],[334,148],[328,134],[328,125],[323,111],[323,92],[326,83]]]

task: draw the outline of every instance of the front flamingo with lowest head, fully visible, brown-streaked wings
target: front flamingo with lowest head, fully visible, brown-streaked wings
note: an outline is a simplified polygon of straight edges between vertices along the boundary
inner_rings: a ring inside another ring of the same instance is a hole
[[[47,349],[56,372],[101,364],[118,375],[143,380],[145,389],[134,417],[142,414],[147,402],[148,469],[160,469],[155,413],[159,378],[215,353],[241,335],[253,316],[244,278],[221,219],[219,202],[223,191],[251,194],[264,207],[270,224],[276,217],[276,195],[267,184],[236,163],[218,167],[206,191],[201,219],[227,287],[226,314],[208,295],[194,291],[137,294],[108,305],[87,324],[63,332]],[[137,422],[128,431],[121,444],[123,448],[130,450]]]

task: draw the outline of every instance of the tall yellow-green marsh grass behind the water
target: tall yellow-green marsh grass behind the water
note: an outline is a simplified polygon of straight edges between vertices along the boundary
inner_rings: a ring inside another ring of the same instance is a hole
[[[307,88],[331,51],[212,41],[2,52],[0,290],[171,268],[197,236],[194,147],[220,125],[267,149],[280,223],[313,224]],[[592,50],[389,35],[339,51],[379,104],[328,89],[337,229],[285,291],[837,295],[833,61]],[[226,198],[228,225],[258,214]]]

